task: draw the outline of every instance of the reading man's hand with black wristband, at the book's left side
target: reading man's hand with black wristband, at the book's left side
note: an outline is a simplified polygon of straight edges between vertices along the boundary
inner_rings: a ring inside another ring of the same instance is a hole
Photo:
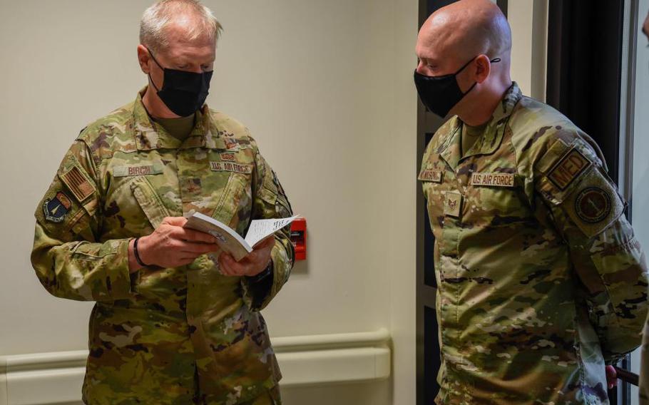
[[[140,237],[138,253],[146,265],[178,267],[196,257],[218,250],[212,235],[183,228],[185,217],[166,217],[152,234]],[[131,272],[142,268],[136,260],[133,240],[128,245],[128,267]]]

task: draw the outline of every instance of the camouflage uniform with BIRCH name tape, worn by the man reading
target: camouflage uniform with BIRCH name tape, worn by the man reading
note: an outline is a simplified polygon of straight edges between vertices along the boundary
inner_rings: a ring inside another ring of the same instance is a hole
[[[291,215],[286,195],[240,123],[204,106],[181,141],[150,120],[142,94],[81,132],[36,209],[39,280],[56,297],[96,301],[83,400],[240,404],[272,394],[279,403],[258,311],[290,275],[289,231],[275,234],[261,290],[221,275],[220,252],[130,275],[128,242],[190,210],[244,235],[252,219]]]

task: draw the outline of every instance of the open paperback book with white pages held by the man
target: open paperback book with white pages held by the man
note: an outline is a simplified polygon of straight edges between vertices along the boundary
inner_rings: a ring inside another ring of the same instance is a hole
[[[216,238],[217,245],[225,250],[225,252],[230,253],[238,262],[248,253],[252,252],[252,248],[257,243],[286,225],[289,225],[298,216],[294,215],[290,218],[277,218],[272,220],[252,220],[245,239],[235,230],[228,227],[228,225],[200,212],[193,212],[193,214],[189,215],[184,227],[209,233]]]

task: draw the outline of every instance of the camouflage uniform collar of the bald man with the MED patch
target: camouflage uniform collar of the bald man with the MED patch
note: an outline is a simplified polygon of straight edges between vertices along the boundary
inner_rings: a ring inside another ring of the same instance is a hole
[[[491,116],[489,123],[484,128],[484,133],[476,140],[476,143],[466,152],[466,155],[461,155],[461,134],[462,125],[464,123],[458,118],[452,118],[454,121],[450,125],[450,130],[446,138],[442,140],[441,147],[439,148],[439,155],[448,163],[451,168],[456,168],[461,158],[466,158],[473,155],[490,155],[499,148],[503,140],[507,121],[509,116],[516,107],[518,101],[523,97],[521,89],[518,84],[513,82],[511,87],[506,91],[505,96],[496,107],[496,110]]]

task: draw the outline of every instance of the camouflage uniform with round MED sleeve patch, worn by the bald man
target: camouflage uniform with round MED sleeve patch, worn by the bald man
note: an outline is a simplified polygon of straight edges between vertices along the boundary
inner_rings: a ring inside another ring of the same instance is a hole
[[[435,236],[437,404],[608,404],[640,344],[643,252],[597,145],[511,86],[461,156],[447,121],[419,173]],[[433,247],[430,247],[433,248]]]

